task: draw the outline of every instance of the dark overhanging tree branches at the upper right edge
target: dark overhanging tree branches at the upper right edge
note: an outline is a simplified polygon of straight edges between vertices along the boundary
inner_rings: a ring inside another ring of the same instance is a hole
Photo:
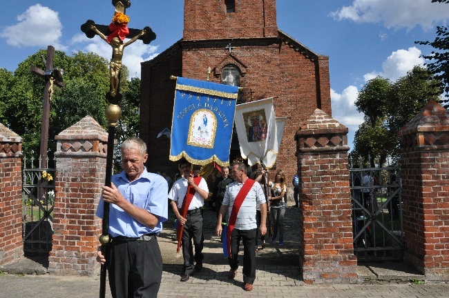
[[[449,3],[449,0],[432,0],[432,3]],[[442,83],[442,88],[446,92],[446,99],[443,100],[444,107],[449,108],[449,28],[448,26],[437,26],[437,37],[434,41],[415,41],[415,43],[432,46],[435,50],[428,55],[423,55],[428,63],[427,69],[434,74],[435,79]]]

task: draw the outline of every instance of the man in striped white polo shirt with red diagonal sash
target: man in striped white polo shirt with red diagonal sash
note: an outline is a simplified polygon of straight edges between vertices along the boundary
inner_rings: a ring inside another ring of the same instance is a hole
[[[238,250],[243,241],[243,282],[245,290],[253,290],[256,279],[256,206],[260,203],[260,235],[267,233],[267,201],[260,184],[247,177],[245,163],[234,163],[231,171],[235,182],[225,192],[218,224],[217,235],[222,233],[222,218],[227,215],[227,239],[229,250],[229,279],[234,279],[238,269]]]

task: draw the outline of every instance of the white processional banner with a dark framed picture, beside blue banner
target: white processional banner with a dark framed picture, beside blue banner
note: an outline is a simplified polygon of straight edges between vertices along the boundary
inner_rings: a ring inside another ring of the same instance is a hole
[[[284,118],[276,121],[273,97],[238,105],[235,121],[242,158],[248,159],[249,166],[261,162],[272,168],[285,126]]]

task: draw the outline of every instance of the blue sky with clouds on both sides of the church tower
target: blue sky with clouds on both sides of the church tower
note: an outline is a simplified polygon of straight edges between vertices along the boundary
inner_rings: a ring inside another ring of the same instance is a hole
[[[132,77],[140,77],[140,62],[182,38],[183,3],[131,0],[126,10],[129,26],[149,26],[157,34],[148,46],[136,42],[126,48],[123,62]],[[422,65],[420,56],[432,48],[414,41],[433,40],[436,26],[446,25],[449,19],[449,4],[431,0],[277,0],[276,6],[280,30],[329,56],[332,117],[350,129],[351,148],[363,121],[354,106],[357,92],[376,75],[394,81]],[[4,5],[0,68],[14,71],[21,61],[49,45],[67,54],[92,51],[110,59],[111,48],[99,37],[87,39],[79,27],[88,19],[107,25],[113,11],[111,0],[19,0]]]

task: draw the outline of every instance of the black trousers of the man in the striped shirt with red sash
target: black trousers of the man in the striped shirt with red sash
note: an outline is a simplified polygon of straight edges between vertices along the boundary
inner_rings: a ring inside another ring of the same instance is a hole
[[[256,228],[253,230],[233,229],[231,233],[231,256],[228,257],[231,270],[238,268],[238,250],[243,241],[243,282],[254,284],[256,279]]]

